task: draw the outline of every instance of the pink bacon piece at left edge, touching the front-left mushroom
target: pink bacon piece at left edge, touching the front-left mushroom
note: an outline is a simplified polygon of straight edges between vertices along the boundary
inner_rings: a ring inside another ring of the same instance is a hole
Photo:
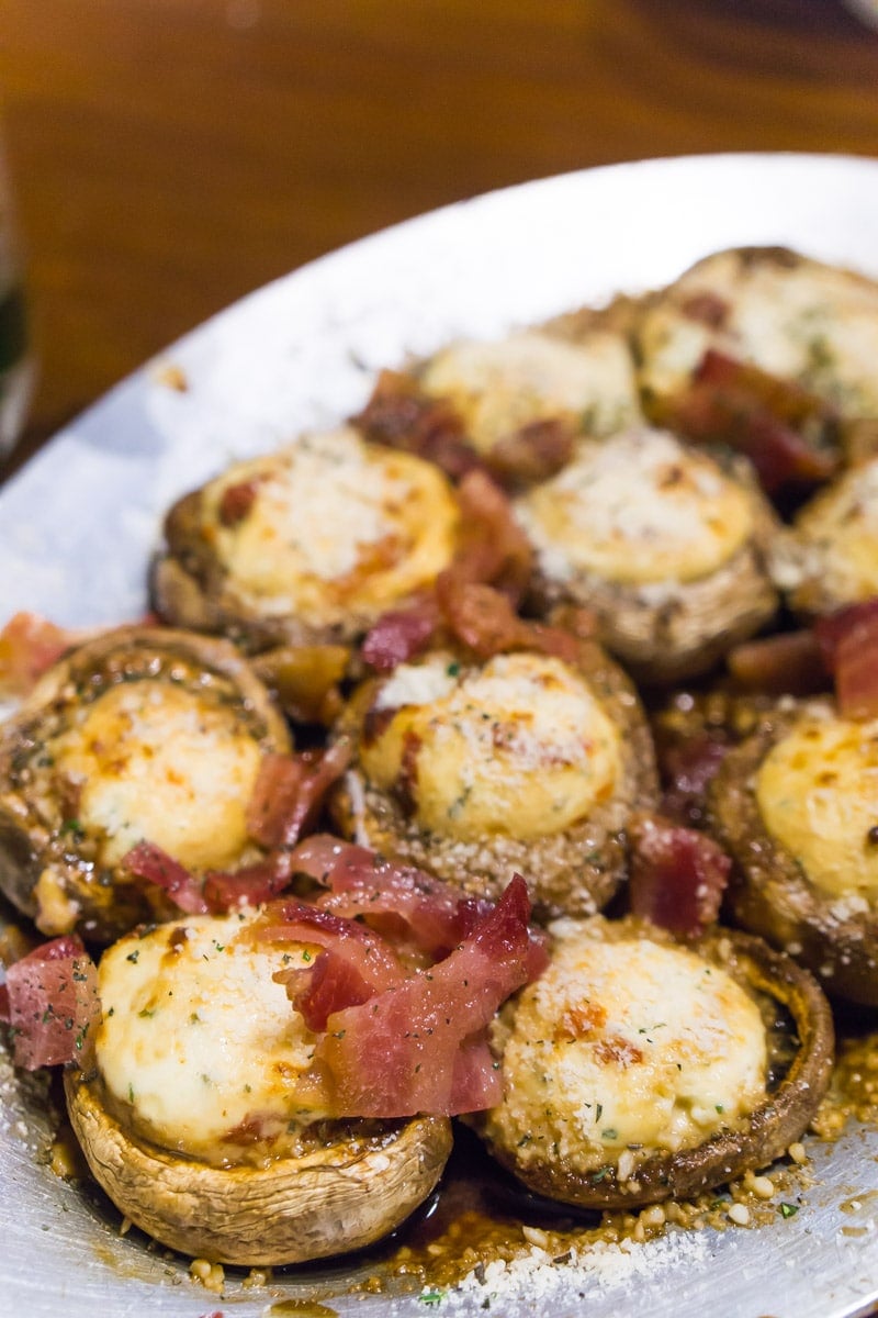
[[[100,1020],[97,971],[82,942],[65,934],[7,971],[5,1015],[14,1061],[25,1070],[86,1061]]]

